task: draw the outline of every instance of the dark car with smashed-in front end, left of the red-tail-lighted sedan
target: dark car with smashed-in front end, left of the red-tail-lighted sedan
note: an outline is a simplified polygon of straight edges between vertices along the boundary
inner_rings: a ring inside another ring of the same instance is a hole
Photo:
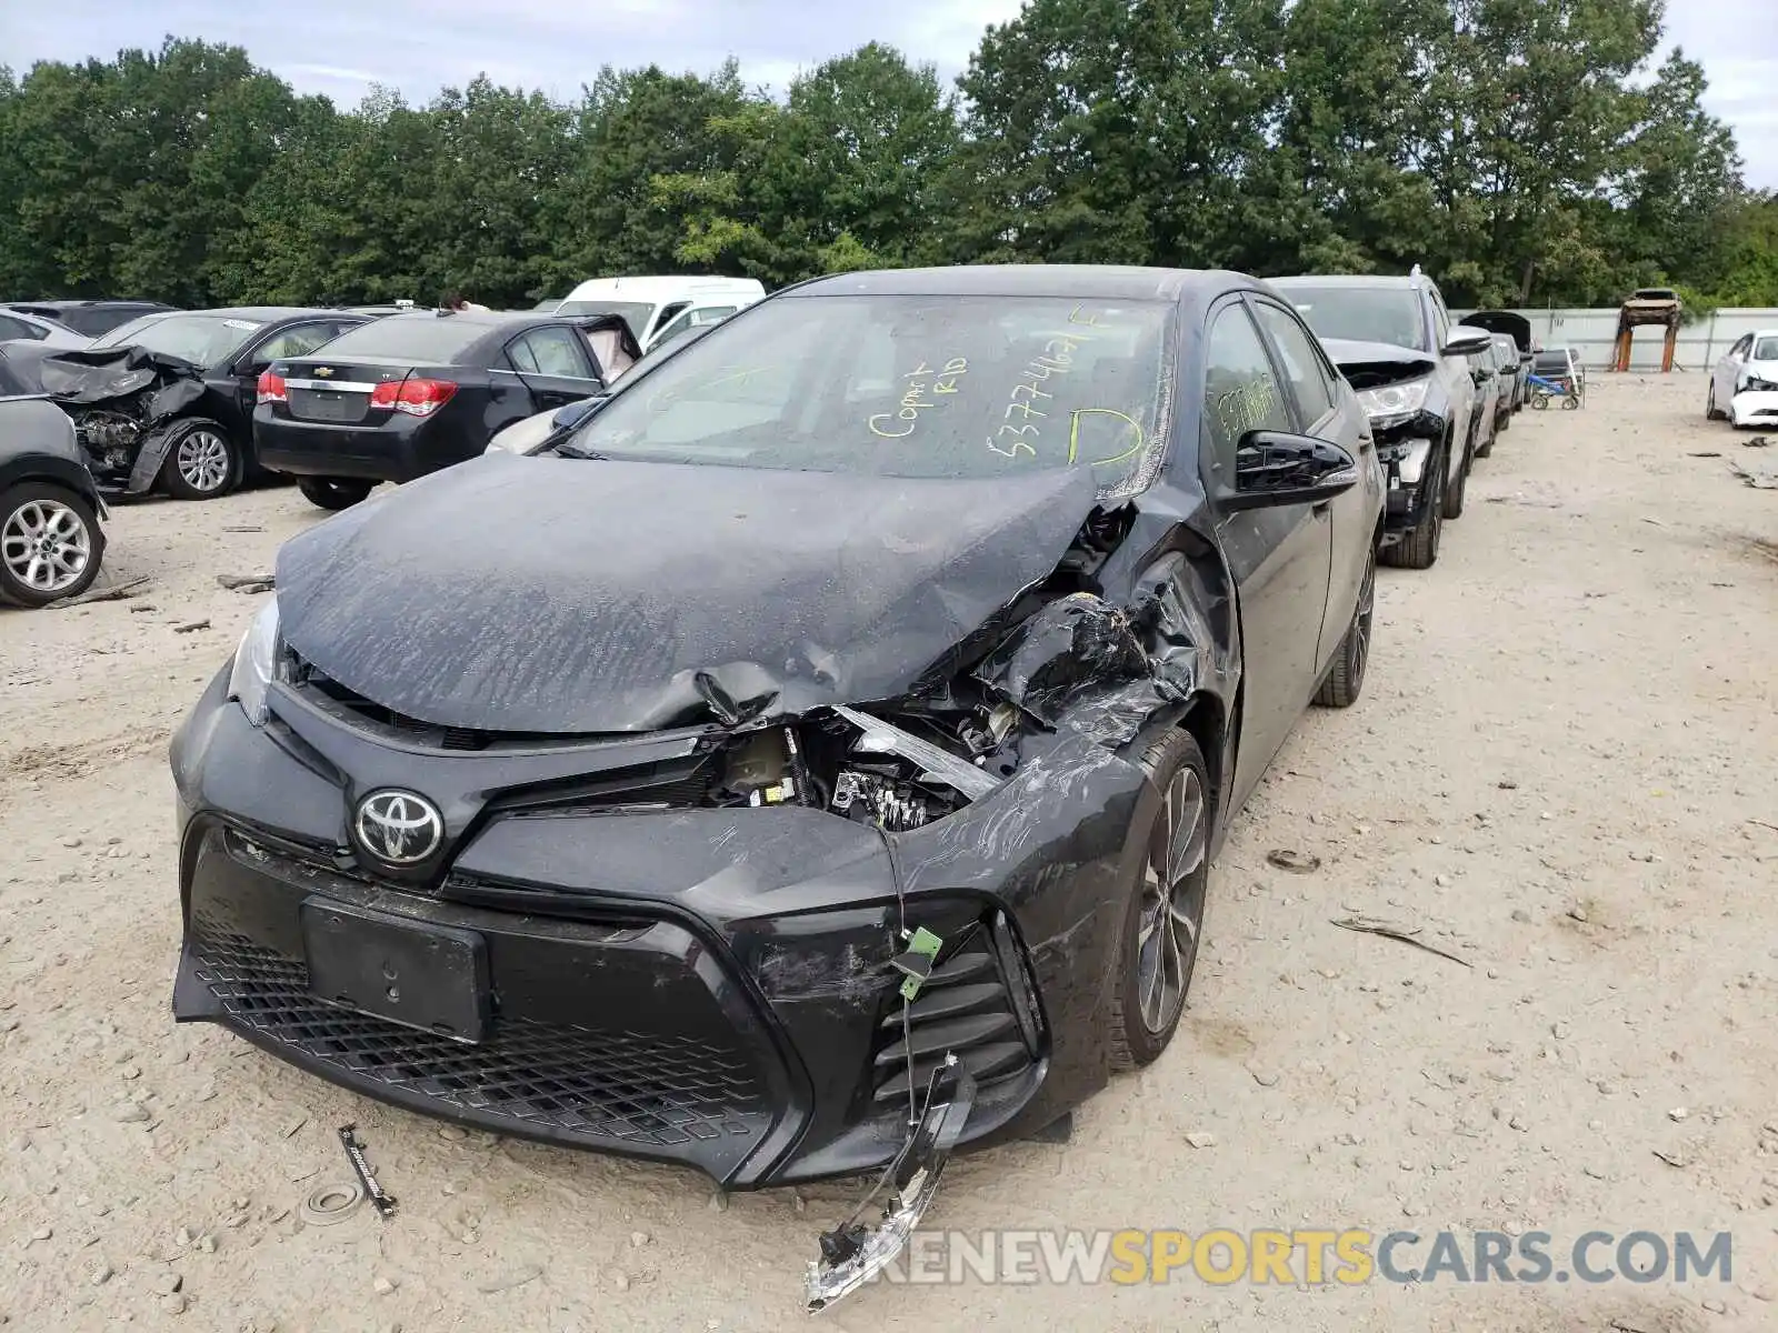
[[[41,357],[32,375],[73,418],[108,492],[215,499],[256,471],[260,371],[370,318],[290,306],[151,313]]]

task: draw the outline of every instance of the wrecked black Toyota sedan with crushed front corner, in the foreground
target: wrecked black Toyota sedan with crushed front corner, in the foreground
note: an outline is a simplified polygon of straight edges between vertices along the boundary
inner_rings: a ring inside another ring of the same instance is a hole
[[[1364,684],[1382,514],[1237,274],[782,291],[284,546],[172,745],[174,1013],[729,1187],[894,1161],[917,1214],[1166,1049],[1232,812]]]

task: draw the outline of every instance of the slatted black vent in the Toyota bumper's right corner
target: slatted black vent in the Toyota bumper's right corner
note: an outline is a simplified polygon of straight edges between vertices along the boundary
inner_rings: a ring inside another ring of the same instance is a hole
[[[994,1084],[1031,1068],[1042,1020],[1019,946],[1005,917],[980,922],[932,969],[912,1004],[896,1002],[882,1020],[875,1059],[875,1102],[905,1102],[912,1084],[926,1088],[948,1054]]]

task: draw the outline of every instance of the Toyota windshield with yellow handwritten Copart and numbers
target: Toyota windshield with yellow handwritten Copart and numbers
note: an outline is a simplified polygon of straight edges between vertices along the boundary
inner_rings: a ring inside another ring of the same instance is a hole
[[[877,476],[1092,467],[1134,494],[1168,428],[1172,306],[786,297],[717,325],[574,437],[612,459]]]

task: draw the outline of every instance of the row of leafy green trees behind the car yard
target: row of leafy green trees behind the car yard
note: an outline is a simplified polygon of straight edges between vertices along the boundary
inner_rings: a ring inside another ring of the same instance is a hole
[[[341,110],[169,37],[0,68],[0,299],[519,306],[1047,261],[1778,304],[1778,199],[1662,44],[1661,0],[1029,0],[955,85],[871,43],[782,98],[729,62]]]

